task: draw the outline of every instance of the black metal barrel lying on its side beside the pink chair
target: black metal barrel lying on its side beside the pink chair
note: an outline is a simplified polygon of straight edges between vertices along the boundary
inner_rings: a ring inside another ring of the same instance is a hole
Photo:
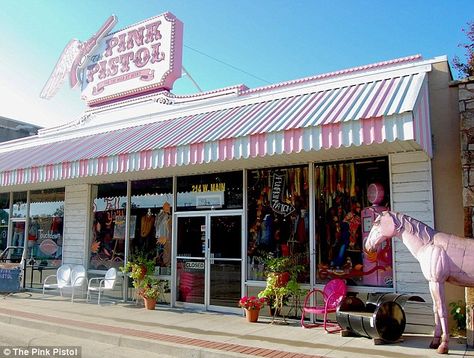
[[[405,313],[398,303],[387,301],[365,305],[356,297],[344,299],[336,312],[336,320],[344,330],[386,342],[397,341],[406,324]]]

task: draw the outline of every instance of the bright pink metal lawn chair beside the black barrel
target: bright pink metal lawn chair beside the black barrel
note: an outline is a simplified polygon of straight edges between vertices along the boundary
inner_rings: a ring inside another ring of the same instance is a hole
[[[313,289],[308,292],[306,298],[304,300],[302,313],[301,313],[301,327],[303,328],[314,328],[323,325],[324,330],[328,333],[333,333],[340,331],[341,328],[338,326],[337,323],[328,322],[327,316],[328,313],[336,312],[337,307],[341,303],[342,299],[345,297],[347,293],[347,286],[344,280],[339,278],[333,279],[329,281],[325,286],[324,289],[318,290]],[[321,305],[318,305],[318,294],[320,296],[320,301],[322,299]],[[313,323],[313,324],[305,324],[305,315],[314,314],[315,320],[318,314],[323,315],[323,322],[321,323]],[[328,330],[328,326],[337,327],[333,330]]]

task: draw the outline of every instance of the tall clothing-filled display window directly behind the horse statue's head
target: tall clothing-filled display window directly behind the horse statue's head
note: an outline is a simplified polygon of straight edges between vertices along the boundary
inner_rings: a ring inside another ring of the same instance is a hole
[[[390,203],[388,160],[315,165],[314,189],[316,282],[393,287],[391,241],[370,255],[362,250],[377,213]]]

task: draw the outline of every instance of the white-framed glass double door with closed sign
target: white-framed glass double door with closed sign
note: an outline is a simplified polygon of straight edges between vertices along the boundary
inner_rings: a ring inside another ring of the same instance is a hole
[[[242,215],[177,217],[176,303],[229,311],[242,289]]]

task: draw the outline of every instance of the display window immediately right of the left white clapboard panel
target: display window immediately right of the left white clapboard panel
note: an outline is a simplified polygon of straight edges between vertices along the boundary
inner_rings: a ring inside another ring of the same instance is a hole
[[[107,270],[123,266],[127,183],[92,186],[93,220],[90,268]]]

